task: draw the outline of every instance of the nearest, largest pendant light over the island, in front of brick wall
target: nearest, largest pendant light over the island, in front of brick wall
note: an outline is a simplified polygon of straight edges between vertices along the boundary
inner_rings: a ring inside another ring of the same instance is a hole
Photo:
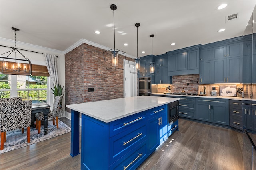
[[[107,70],[124,70],[124,64],[118,63],[119,62],[118,57],[119,55],[123,55],[124,62],[125,62],[126,53],[124,51],[120,51],[116,49],[116,42],[115,42],[115,10],[117,9],[117,6],[115,4],[112,4],[110,5],[110,9],[113,10],[113,16],[114,16],[113,17],[114,18],[114,49],[110,49],[108,51],[103,52],[104,61],[105,61]],[[120,65],[123,65],[123,67],[121,67]]]

